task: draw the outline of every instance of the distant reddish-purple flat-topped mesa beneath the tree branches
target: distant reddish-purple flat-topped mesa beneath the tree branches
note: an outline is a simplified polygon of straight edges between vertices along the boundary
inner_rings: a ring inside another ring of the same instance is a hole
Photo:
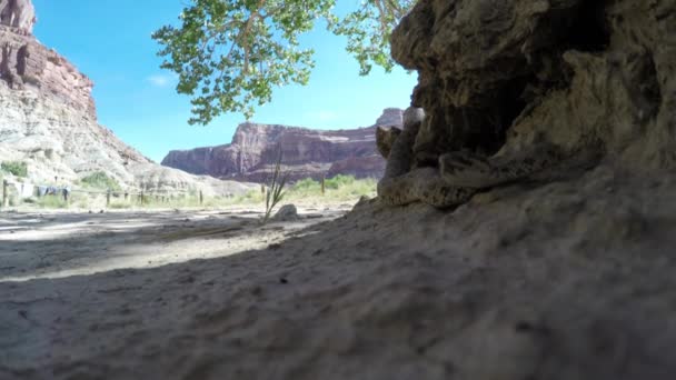
[[[196,174],[261,181],[275,166],[281,149],[290,179],[352,174],[380,178],[385,160],[377,153],[378,126],[401,126],[401,110],[386,109],[376,124],[352,130],[312,130],[274,124],[240,124],[232,143],[171,151],[162,164]]]

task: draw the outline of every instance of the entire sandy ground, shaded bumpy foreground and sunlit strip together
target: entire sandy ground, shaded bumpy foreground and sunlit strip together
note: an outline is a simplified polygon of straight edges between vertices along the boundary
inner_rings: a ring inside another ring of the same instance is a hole
[[[0,379],[675,378],[674,173],[339,213],[3,214]]]

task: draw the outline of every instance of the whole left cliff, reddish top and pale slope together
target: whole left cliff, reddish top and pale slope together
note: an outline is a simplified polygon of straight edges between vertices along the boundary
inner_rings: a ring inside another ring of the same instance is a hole
[[[131,188],[248,188],[163,168],[100,126],[92,81],[31,34],[34,21],[29,0],[0,0],[0,161],[27,162],[37,182],[103,171]]]

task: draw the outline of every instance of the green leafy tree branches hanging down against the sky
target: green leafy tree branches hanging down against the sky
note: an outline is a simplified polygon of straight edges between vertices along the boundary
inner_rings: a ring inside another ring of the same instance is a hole
[[[368,74],[374,64],[391,70],[389,36],[415,0],[364,0],[337,16],[337,0],[191,0],[180,26],[152,34],[162,47],[162,68],[178,74],[179,93],[191,97],[190,123],[209,123],[223,112],[254,114],[271,100],[272,88],[306,84],[314,50],[300,34],[326,20],[348,39],[347,51]]]

